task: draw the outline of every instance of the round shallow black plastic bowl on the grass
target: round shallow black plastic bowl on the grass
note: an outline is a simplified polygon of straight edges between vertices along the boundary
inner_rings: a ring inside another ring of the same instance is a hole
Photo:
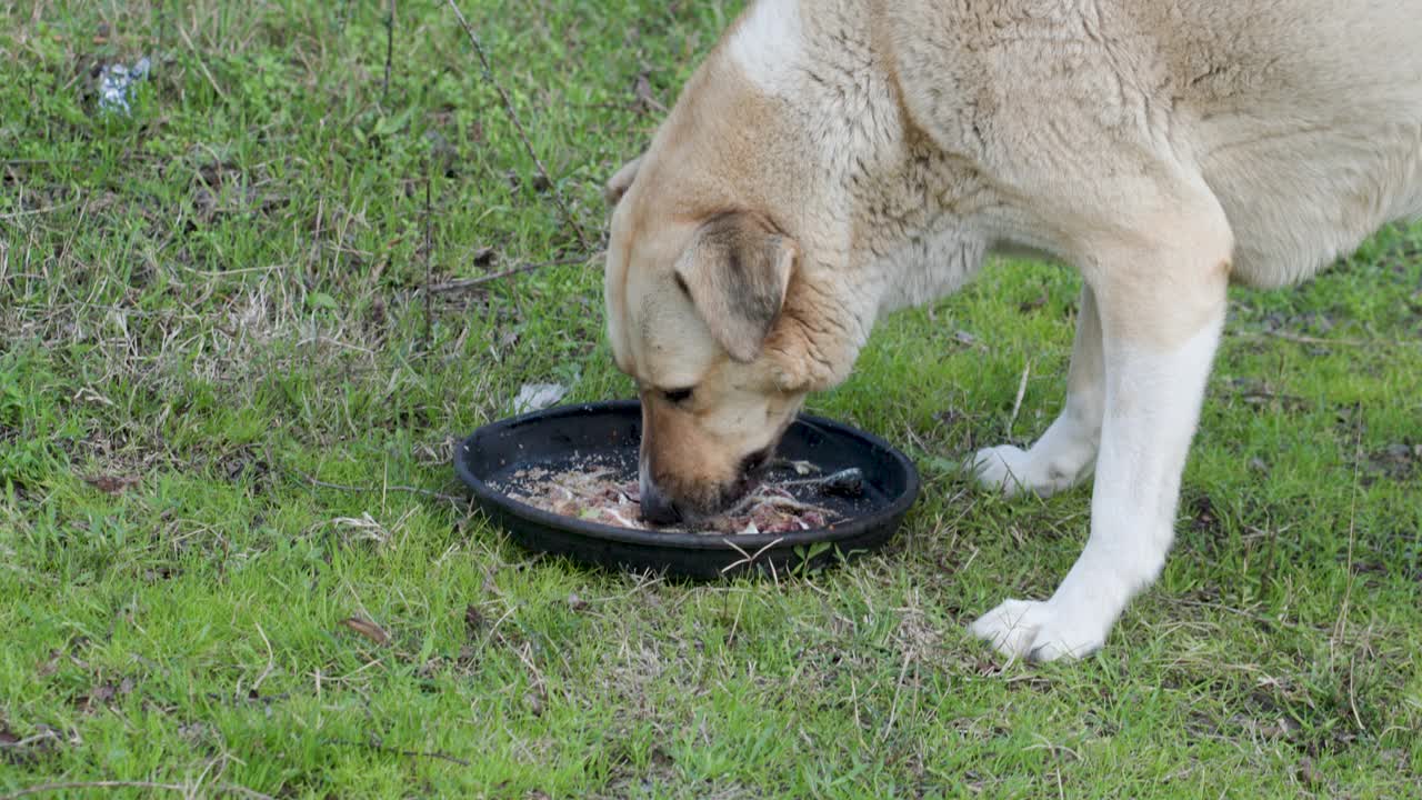
[[[459,478],[485,512],[515,541],[542,552],[614,569],[650,569],[685,578],[722,578],[747,571],[813,568],[873,549],[894,534],[919,495],[913,463],[876,436],[840,423],[801,416],[785,431],[781,458],[803,460],[826,474],[859,467],[865,493],[852,515],[786,534],[643,531],[589,522],[533,508],[508,497],[513,473],[566,470],[574,460],[636,464],[641,407],[636,400],[559,406],[488,424],[455,454]]]

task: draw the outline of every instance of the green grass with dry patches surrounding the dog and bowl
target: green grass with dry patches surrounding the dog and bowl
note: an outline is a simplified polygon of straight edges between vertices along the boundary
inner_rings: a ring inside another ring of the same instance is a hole
[[[466,0],[590,238],[735,6]],[[1160,584],[1101,655],[1003,665],[964,625],[1055,586],[1089,493],[947,467],[1052,419],[1078,279],[994,263],[813,399],[923,470],[884,551],[530,555],[438,495],[522,383],[630,393],[599,262],[442,3],[383,87],[387,13],[0,3],[0,797],[1422,796],[1422,229],[1234,292]]]

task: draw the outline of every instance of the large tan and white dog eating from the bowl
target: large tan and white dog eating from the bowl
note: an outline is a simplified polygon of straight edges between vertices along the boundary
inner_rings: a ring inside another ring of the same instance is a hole
[[[1418,41],[1411,0],[755,0],[606,186],[644,515],[727,507],[876,320],[1035,253],[1082,275],[1064,409],[967,463],[1008,494],[1094,477],[1091,531],[970,629],[1099,649],[1170,548],[1227,286],[1422,215]]]

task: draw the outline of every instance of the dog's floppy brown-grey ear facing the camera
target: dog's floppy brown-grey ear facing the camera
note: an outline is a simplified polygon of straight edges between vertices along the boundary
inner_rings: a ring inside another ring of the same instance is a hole
[[[793,239],[758,216],[729,212],[701,225],[675,275],[715,340],[748,363],[785,305],[798,255]]]

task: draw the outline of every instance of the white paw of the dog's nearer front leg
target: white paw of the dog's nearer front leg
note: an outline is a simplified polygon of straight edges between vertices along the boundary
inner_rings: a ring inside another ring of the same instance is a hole
[[[968,626],[968,632],[987,639],[1003,655],[1035,662],[1059,658],[1084,658],[1099,651],[1106,641],[1106,626],[1089,614],[1064,614],[1051,602],[1004,601]]]

